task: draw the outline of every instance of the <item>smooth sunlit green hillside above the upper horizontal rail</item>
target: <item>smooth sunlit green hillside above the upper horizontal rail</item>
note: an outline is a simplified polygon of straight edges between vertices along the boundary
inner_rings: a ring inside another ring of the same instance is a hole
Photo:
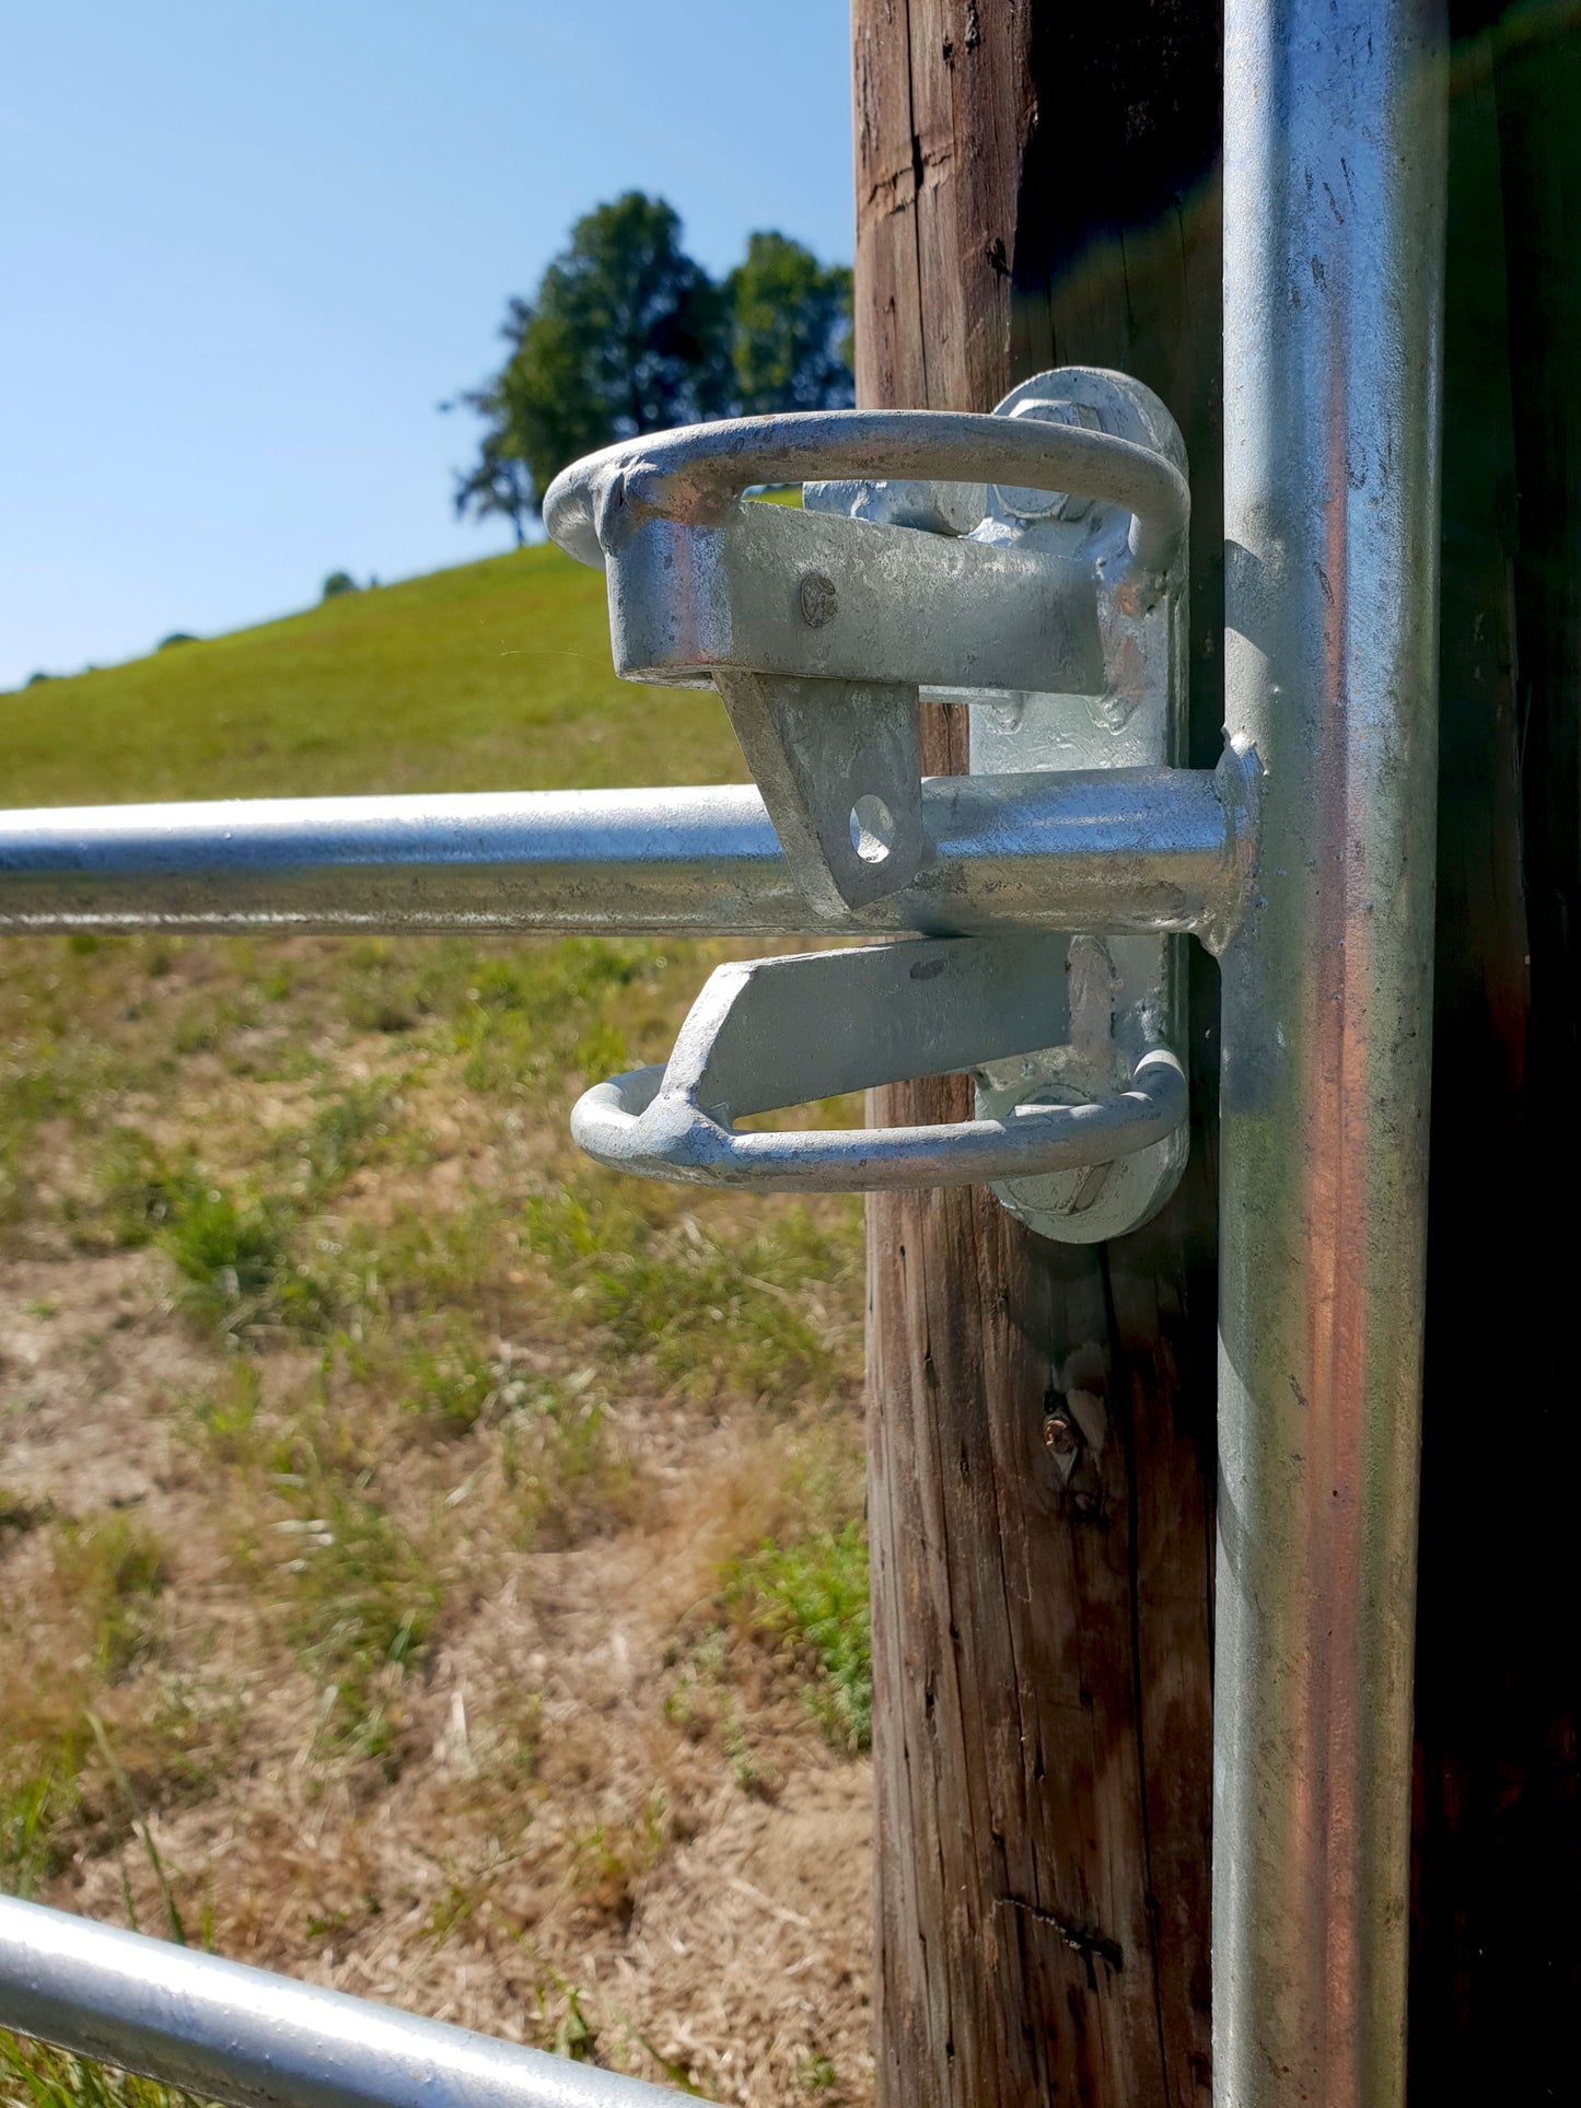
[[[0,696],[4,805],[731,782],[717,698],[616,681],[557,548]]]

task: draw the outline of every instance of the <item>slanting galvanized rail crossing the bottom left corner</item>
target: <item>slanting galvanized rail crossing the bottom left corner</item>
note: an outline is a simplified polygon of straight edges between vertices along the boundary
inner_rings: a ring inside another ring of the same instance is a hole
[[[0,2026],[232,2108],[668,2108],[668,2087],[0,1897]]]

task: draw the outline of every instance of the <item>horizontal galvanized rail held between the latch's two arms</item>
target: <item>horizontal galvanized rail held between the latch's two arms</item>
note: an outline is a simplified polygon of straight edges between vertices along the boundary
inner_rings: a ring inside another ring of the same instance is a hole
[[[1233,784],[1221,797],[1206,772],[936,778],[923,818],[917,883],[841,928],[1212,938],[1246,883]],[[0,932],[148,928],[788,936],[828,923],[750,786],[0,814]]]

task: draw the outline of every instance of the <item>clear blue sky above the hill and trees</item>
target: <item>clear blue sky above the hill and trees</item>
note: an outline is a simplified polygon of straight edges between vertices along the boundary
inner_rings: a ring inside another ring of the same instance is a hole
[[[6,17],[0,687],[508,546],[436,405],[601,198],[852,253],[847,0]]]

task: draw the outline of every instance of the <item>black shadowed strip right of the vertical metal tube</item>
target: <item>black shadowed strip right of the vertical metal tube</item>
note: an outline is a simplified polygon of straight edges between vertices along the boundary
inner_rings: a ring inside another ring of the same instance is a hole
[[[1452,6],[1410,2100],[1575,2100],[1581,8]]]

